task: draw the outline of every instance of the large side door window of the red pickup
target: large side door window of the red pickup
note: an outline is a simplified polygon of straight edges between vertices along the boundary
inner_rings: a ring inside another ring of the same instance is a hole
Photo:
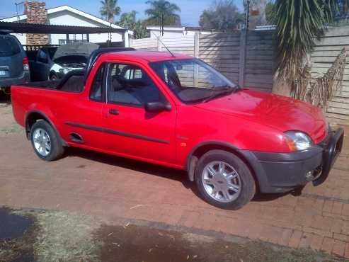
[[[150,77],[139,67],[111,64],[108,79],[108,102],[142,107],[165,98]]]

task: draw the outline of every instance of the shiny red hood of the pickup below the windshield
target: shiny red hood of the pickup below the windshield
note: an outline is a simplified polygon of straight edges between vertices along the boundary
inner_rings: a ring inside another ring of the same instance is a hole
[[[316,144],[327,135],[326,120],[319,108],[272,93],[243,89],[229,96],[200,103],[196,107],[234,115],[281,132],[302,131]]]

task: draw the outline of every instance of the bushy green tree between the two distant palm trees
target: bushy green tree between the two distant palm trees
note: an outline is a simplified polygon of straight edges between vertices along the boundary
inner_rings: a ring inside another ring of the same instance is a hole
[[[120,25],[122,28],[127,28],[128,30],[132,30],[134,33],[134,38],[146,38],[148,35],[147,26],[144,21],[136,19],[136,11],[131,11],[130,13],[122,13],[120,16]]]

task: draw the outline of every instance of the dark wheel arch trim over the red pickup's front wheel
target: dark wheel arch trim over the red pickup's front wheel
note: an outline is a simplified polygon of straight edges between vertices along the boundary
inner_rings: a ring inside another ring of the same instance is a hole
[[[196,165],[198,164],[198,160],[200,157],[211,151],[211,150],[223,150],[230,152],[232,154],[235,154],[236,156],[239,156],[239,158],[244,161],[244,163],[248,166],[248,169],[250,169],[252,176],[254,180],[256,181],[256,188],[259,189],[259,179],[256,174],[255,169],[253,169],[253,165],[248,161],[246,156],[244,154],[241,154],[240,150],[238,147],[235,147],[233,144],[229,144],[226,142],[220,142],[220,141],[207,141],[207,142],[202,142],[200,144],[197,144],[193,149],[190,151],[190,154],[188,155],[186,164],[185,164],[185,169],[188,171],[188,178],[190,181],[194,181],[194,176],[195,176],[195,168]]]

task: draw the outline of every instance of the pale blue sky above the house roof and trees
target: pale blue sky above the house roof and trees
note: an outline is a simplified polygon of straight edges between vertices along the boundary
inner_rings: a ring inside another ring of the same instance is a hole
[[[0,18],[16,16],[16,5],[23,0],[0,0]],[[118,4],[122,12],[137,11],[137,18],[145,18],[144,10],[147,9],[147,0],[118,0]],[[206,8],[212,6],[214,0],[169,0],[173,4],[177,4],[181,8],[182,24],[187,26],[198,26],[200,14]],[[235,4],[242,10],[242,1],[236,0]],[[100,16],[99,8],[101,7],[100,0],[46,0],[47,8],[56,6],[68,5],[78,8],[86,13],[91,13],[93,16]],[[23,5],[20,6],[20,13],[23,13]]]

